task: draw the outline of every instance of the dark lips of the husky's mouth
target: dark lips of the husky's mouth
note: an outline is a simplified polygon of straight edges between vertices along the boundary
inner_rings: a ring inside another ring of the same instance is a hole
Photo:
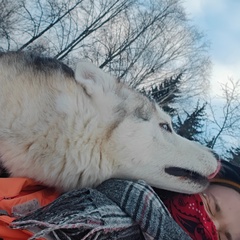
[[[187,170],[179,167],[166,167],[165,172],[169,175],[180,177],[183,180],[190,180],[200,184],[206,184],[208,182],[208,178],[203,175]]]

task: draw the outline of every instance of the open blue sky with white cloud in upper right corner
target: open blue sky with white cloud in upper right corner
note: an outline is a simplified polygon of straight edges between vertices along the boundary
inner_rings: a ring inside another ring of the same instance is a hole
[[[211,91],[240,79],[240,0],[183,0],[189,18],[210,42]]]

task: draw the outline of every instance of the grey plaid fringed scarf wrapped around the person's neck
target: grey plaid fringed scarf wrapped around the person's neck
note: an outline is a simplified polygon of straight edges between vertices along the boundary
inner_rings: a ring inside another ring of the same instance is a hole
[[[120,179],[65,193],[12,227],[37,229],[31,239],[190,240],[151,187]]]

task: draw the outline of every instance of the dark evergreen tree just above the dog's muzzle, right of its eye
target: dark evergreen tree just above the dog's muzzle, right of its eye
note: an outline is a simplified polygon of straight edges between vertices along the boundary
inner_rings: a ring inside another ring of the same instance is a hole
[[[201,122],[204,119],[205,107],[206,103],[200,107],[198,102],[191,114],[185,111],[187,117],[184,120],[178,116],[177,122],[174,124],[176,132],[189,140],[199,141],[198,136],[203,132]]]

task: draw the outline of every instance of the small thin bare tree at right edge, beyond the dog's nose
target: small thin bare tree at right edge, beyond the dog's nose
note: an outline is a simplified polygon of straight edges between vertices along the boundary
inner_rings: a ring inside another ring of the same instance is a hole
[[[214,105],[215,102],[215,105]],[[222,85],[222,95],[209,103],[207,123],[208,146],[224,153],[232,146],[239,146],[240,133],[240,80],[228,79]]]

